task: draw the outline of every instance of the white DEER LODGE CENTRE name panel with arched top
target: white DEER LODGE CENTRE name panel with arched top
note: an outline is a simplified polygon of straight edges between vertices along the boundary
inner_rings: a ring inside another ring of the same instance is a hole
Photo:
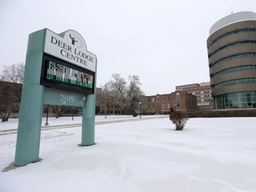
[[[84,38],[74,30],[57,35],[46,28],[44,52],[92,72],[96,70],[96,55],[87,52]]]

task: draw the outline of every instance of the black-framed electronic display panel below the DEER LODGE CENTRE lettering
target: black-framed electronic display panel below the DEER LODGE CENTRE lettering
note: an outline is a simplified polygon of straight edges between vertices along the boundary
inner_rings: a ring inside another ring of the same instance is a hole
[[[40,84],[65,91],[93,94],[94,73],[44,54]]]

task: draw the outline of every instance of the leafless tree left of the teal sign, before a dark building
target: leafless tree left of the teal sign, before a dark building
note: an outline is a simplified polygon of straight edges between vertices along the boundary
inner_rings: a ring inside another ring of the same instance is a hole
[[[20,63],[4,66],[0,79],[5,82],[0,94],[0,114],[2,122],[5,122],[8,121],[12,111],[18,112],[17,109],[20,106],[21,99],[21,84],[24,79],[24,65]]]

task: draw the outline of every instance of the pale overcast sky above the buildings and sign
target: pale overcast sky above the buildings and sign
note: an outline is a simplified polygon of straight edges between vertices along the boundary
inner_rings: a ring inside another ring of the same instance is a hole
[[[97,55],[97,86],[112,74],[140,77],[146,95],[209,82],[206,40],[231,12],[255,0],[0,0],[0,69],[25,63],[28,35],[76,30]]]

